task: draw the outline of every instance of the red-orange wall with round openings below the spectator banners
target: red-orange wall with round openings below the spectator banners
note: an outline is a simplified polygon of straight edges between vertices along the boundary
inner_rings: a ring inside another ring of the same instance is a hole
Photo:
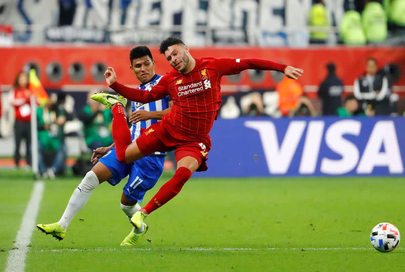
[[[14,76],[27,62],[37,65],[37,71],[46,70],[51,62],[58,61],[62,70],[69,72],[72,63],[83,65],[86,73],[77,73],[75,76],[63,76],[59,82],[53,82],[46,73],[39,73],[39,80],[46,88],[61,88],[65,85],[103,85],[98,76],[91,71],[96,64],[96,72],[102,70],[97,63],[114,67],[120,83],[134,85],[136,78],[128,69],[130,65],[129,52],[132,47],[109,47],[109,46],[88,46],[88,47],[14,47],[0,48],[0,56],[7,63],[1,69],[0,82],[2,85],[11,85]],[[156,60],[156,72],[165,74],[171,69],[163,55],[158,53],[157,48],[151,48]],[[329,62],[336,63],[337,74],[343,79],[344,85],[352,86],[354,79],[365,70],[365,63],[368,57],[378,60],[379,66],[387,63],[396,63],[401,71],[405,71],[405,48],[401,47],[316,47],[308,49],[291,48],[191,48],[192,56],[199,57],[229,57],[247,58],[258,57],[288,63],[304,69],[304,76],[300,84],[304,91],[316,91],[317,86],[325,78]],[[77,68],[77,67],[76,67]],[[80,75],[80,76],[77,76]],[[263,79],[262,79],[263,76]],[[259,74],[244,71],[237,76],[224,76],[221,84],[224,92],[235,92],[240,89],[274,89],[276,80],[272,73],[266,71]],[[399,77],[393,90],[405,94],[405,77]]]

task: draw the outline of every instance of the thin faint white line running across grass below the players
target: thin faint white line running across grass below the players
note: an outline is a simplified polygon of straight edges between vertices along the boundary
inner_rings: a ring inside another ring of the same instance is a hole
[[[350,251],[350,250],[374,250],[367,248],[59,248],[41,249],[35,252],[84,252],[84,251]],[[398,249],[397,249],[398,250]]]

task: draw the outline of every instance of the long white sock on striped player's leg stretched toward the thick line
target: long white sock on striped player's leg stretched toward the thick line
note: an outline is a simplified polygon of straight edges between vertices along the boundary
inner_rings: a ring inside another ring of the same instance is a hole
[[[59,220],[59,224],[63,229],[67,229],[73,217],[80,211],[86,202],[89,200],[95,187],[99,185],[98,178],[93,171],[87,172],[82,182],[73,191],[66,210]]]

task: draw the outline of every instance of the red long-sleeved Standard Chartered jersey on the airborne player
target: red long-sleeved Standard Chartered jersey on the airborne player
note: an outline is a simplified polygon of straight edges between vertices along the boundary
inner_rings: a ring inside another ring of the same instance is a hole
[[[110,88],[124,97],[141,103],[173,99],[170,113],[163,123],[190,138],[207,137],[221,105],[221,77],[237,74],[246,69],[277,70],[284,72],[286,65],[256,58],[200,58],[188,73],[173,69],[166,73],[150,92],[133,89],[114,82]]]

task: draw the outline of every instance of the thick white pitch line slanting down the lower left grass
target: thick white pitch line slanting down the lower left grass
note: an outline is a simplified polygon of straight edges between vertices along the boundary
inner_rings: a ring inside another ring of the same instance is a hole
[[[24,272],[25,258],[27,257],[28,245],[31,241],[32,231],[35,227],[35,218],[41,204],[44,192],[44,181],[34,182],[31,198],[25,208],[20,230],[17,233],[14,248],[9,252],[5,272]]]

